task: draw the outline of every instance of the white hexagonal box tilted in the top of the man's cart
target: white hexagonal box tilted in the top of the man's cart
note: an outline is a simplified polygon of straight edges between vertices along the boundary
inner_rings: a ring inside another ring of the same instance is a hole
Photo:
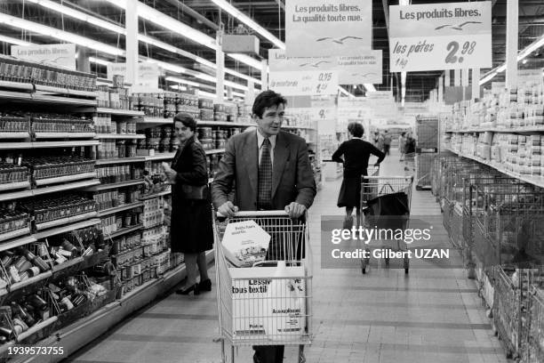
[[[228,262],[251,267],[267,256],[270,235],[255,221],[228,223],[221,245]]]

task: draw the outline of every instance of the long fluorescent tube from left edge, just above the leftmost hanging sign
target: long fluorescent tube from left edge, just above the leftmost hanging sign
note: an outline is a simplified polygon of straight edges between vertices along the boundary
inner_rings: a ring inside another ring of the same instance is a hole
[[[52,36],[56,39],[62,40],[68,43],[74,43],[82,45],[87,48],[94,49],[98,52],[105,52],[112,55],[124,55],[124,51],[114,46],[103,44],[84,36],[76,36],[75,34],[68,33],[64,30],[57,28],[46,27],[41,24],[37,24],[32,21],[16,18],[11,15],[7,15],[0,12],[0,23],[14,27],[25,29],[30,32],[38,33],[44,36]]]

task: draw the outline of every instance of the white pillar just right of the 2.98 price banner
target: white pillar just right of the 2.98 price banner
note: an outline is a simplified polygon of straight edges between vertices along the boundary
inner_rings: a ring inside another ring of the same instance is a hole
[[[506,53],[506,86],[508,89],[517,87],[517,30],[518,30],[518,0],[507,2],[507,53]]]

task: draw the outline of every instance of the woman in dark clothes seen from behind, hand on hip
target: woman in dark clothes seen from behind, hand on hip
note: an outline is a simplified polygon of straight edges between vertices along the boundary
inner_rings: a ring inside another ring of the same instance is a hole
[[[342,142],[340,148],[332,154],[332,160],[344,165],[344,179],[340,187],[337,206],[346,207],[345,229],[349,229],[353,225],[351,215],[353,208],[356,208],[356,225],[361,223],[361,176],[367,175],[366,169],[370,156],[378,157],[374,166],[379,166],[385,158],[385,154],[380,149],[363,140],[363,125],[356,122],[349,123],[348,133],[352,135],[351,140]]]

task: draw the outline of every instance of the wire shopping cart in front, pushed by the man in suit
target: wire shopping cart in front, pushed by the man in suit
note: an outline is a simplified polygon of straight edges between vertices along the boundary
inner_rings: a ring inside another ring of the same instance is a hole
[[[221,241],[228,223],[244,221],[256,222],[271,238],[264,261],[236,268]],[[312,339],[308,215],[293,220],[284,211],[240,212],[224,222],[214,220],[213,229],[221,362],[227,361],[225,343],[231,345],[232,363],[235,347],[250,345],[298,345],[298,360],[306,361],[304,345]]]

